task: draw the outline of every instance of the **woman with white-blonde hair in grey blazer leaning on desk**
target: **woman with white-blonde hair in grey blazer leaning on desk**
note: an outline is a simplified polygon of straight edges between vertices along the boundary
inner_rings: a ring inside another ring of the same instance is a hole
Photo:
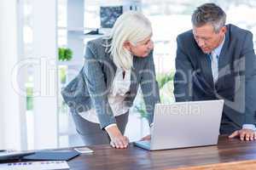
[[[128,146],[125,127],[139,85],[153,122],[160,97],[151,37],[150,21],[129,11],[119,16],[110,35],[87,43],[83,69],[61,91],[84,144]]]

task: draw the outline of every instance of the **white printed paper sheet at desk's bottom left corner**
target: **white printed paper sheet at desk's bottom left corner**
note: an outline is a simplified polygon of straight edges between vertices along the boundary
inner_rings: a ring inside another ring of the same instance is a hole
[[[0,170],[52,170],[69,169],[67,161],[22,161],[0,164]]]

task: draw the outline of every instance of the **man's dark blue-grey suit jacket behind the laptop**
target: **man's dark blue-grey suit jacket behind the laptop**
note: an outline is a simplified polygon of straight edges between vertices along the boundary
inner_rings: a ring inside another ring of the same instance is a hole
[[[174,94],[176,101],[224,99],[222,125],[229,124],[233,131],[243,124],[254,124],[256,58],[253,34],[237,26],[226,27],[215,84],[211,59],[201,51],[192,31],[177,37]]]

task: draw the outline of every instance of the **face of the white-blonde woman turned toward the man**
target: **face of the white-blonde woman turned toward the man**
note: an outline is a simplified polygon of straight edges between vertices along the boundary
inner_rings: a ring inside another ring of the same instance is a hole
[[[126,48],[131,52],[131,54],[138,57],[147,57],[151,50],[154,48],[154,43],[151,40],[152,36],[145,38],[141,42],[137,42],[136,45],[132,45],[131,42],[127,42]]]

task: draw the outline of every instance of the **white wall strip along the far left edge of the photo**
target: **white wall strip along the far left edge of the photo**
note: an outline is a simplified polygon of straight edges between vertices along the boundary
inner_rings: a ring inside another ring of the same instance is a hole
[[[11,84],[18,61],[16,0],[0,1],[0,148],[20,149],[19,95]]]

